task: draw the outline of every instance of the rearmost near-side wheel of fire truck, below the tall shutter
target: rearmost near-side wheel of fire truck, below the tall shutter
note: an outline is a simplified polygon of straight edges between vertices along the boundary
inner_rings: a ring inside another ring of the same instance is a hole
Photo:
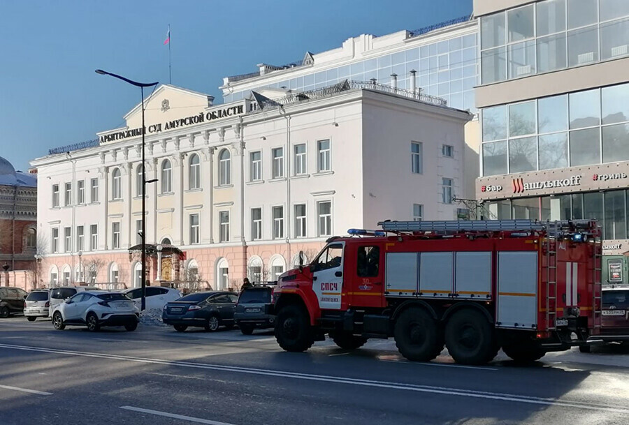
[[[493,327],[480,311],[454,313],[445,329],[448,352],[457,363],[486,364],[498,354]]]

